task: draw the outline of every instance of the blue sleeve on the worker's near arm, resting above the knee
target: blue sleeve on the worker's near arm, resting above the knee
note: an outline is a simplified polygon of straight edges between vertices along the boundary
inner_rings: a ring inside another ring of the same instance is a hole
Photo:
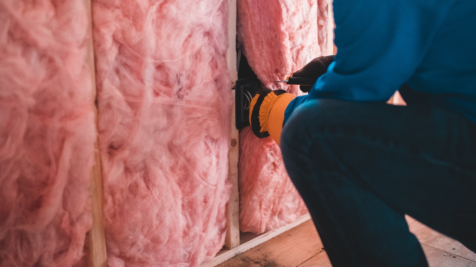
[[[387,101],[415,72],[451,0],[334,0],[335,61],[303,97]]]

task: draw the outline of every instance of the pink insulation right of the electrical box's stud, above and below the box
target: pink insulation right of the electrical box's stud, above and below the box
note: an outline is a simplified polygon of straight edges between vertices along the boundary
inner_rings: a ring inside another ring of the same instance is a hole
[[[327,0],[238,0],[238,44],[266,87],[297,95],[298,86],[272,81],[330,53],[327,5]],[[240,229],[262,233],[305,214],[276,143],[258,139],[249,127],[239,140]]]

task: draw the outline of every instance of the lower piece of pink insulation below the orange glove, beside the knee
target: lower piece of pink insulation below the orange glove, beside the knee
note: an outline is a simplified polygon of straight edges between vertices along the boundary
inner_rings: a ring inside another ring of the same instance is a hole
[[[256,136],[250,127],[240,133],[244,140]],[[250,147],[252,146],[252,147]],[[248,156],[247,152],[259,157]],[[251,168],[250,168],[251,166]],[[240,230],[263,233],[296,221],[307,213],[284,168],[281,151],[270,138],[240,144]]]

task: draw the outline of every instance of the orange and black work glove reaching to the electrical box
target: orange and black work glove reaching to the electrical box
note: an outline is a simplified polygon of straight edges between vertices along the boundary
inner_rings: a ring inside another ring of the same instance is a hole
[[[249,106],[249,124],[258,138],[271,138],[279,145],[284,111],[296,96],[284,90],[272,91],[263,88],[251,99]]]

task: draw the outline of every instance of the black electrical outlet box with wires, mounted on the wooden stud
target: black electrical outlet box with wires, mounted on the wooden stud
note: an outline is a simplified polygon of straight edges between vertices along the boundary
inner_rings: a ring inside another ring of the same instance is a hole
[[[235,126],[241,129],[249,125],[249,105],[261,82],[258,78],[239,79],[235,83]]]

